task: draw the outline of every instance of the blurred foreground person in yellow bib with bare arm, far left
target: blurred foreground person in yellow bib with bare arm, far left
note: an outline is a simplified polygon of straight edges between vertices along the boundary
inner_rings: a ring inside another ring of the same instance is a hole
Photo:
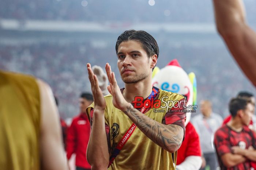
[[[0,70],[0,96],[1,170],[67,170],[50,86]]]

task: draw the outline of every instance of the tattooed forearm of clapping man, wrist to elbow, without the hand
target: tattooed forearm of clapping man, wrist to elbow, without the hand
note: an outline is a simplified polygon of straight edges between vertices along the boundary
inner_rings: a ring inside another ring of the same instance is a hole
[[[124,113],[153,142],[167,151],[176,151],[181,146],[184,130],[179,125],[165,125],[142,114],[132,105]]]

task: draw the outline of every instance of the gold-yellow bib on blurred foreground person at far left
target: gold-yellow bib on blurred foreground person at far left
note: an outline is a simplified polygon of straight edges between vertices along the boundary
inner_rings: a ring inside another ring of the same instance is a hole
[[[0,169],[39,170],[40,95],[35,78],[0,70]]]

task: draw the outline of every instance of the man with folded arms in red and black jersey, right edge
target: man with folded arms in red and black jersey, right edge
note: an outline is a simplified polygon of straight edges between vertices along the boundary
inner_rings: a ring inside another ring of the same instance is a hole
[[[251,170],[256,162],[256,134],[248,128],[254,106],[250,100],[233,98],[229,104],[231,120],[214,136],[221,169]],[[254,164],[254,165],[253,165]]]

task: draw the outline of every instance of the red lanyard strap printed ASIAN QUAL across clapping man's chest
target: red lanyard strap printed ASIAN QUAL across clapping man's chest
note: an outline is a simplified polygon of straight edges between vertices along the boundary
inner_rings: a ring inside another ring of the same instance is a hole
[[[155,96],[157,96],[159,89],[153,86],[152,92],[151,94],[148,96],[147,99],[151,100],[151,98],[155,98]],[[140,112],[142,112],[144,114],[144,112],[146,111],[146,107],[144,106],[140,109]],[[132,133],[134,132],[135,128],[137,126],[132,123],[131,127],[128,129],[128,131],[125,133],[125,135],[123,136],[123,138],[119,141],[118,145],[116,146],[116,148],[114,149],[113,153],[111,154],[110,158],[109,158],[109,165],[108,167],[112,164],[112,162],[114,161],[114,159],[116,158],[116,156],[119,154],[119,152],[121,151],[121,149],[124,147],[125,143],[127,142],[127,140],[131,137]]]

